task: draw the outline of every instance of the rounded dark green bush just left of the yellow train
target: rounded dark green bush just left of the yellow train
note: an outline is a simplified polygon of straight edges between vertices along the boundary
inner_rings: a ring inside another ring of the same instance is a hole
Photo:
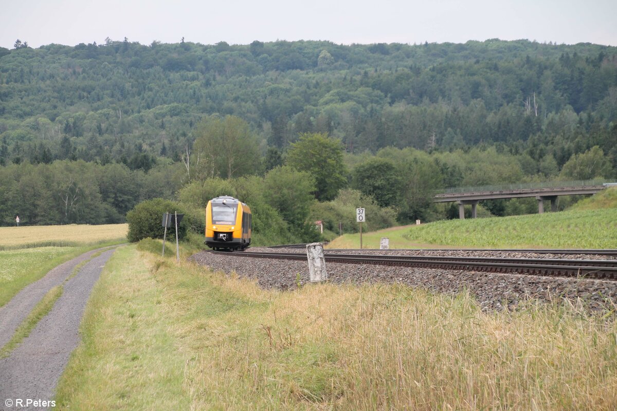
[[[163,238],[165,227],[162,227],[164,213],[178,214],[184,213],[184,207],[177,203],[164,200],[163,198],[154,198],[152,200],[142,201],[126,213],[126,221],[128,222],[128,234],[126,238],[131,243],[138,242],[143,238]],[[189,214],[190,215],[190,214]],[[187,218],[188,217],[188,218]],[[178,239],[181,240],[186,236],[186,229],[191,225],[192,218],[185,215],[184,219],[178,225]],[[175,240],[175,227],[167,229],[167,238]]]

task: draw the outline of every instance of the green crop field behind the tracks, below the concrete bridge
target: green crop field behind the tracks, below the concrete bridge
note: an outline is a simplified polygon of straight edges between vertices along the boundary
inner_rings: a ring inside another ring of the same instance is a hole
[[[363,248],[617,248],[617,208],[582,208],[560,213],[436,221],[363,234]],[[346,234],[328,248],[359,248],[358,234]]]

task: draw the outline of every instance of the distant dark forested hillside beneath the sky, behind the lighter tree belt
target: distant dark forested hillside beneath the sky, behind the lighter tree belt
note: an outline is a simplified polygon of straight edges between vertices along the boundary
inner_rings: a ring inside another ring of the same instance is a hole
[[[262,145],[280,150],[304,132],[326,132],[354,153],[505,144],[538,160],[551,152],[560,166],[594,145],[615,148],[615,47],[108,39],[4,50],[4,164],[78,158],[136,168],[136,153],[178,161],[194,126],[215,113],[246,120]]]

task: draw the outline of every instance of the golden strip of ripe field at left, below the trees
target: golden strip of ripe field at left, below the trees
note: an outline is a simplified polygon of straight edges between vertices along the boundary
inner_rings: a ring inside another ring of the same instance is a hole
[[[126,238],[127,231],[128,224],[0,227],[0,250],[106,242]]]

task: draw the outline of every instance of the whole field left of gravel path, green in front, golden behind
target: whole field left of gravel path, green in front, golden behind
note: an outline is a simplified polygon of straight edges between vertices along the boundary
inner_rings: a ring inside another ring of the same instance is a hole
[[[126,224],[0,227],[0,307],[81,253],[126,242]]]

